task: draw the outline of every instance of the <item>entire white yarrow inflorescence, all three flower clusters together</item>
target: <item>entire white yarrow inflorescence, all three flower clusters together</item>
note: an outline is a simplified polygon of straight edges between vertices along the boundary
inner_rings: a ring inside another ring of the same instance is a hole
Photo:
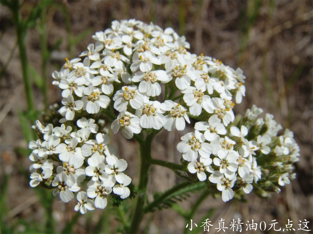
[[[109,144],[104,119],[127,139],[151,129],[182,131],[197,120],[177,144],[182,168],[225,202],[253,188],[262,196],[279,192],[295,178],[300,154],[291,131],[278,135],[273,115],[258,118],[263,110],[256,106],[235,120],[233,107],[245,96],[240,68],[191,54],[172,28],[134,19],[113,21],[92,38],[79,58],[52,74],[62,90],[61,117],[57,126],[33,126],[39,139],[29,143],[31,187],[53,188],[63,202],[77,193],[74,210],[82,214],[105,208],[110,196],[129,197],[127,162]]]

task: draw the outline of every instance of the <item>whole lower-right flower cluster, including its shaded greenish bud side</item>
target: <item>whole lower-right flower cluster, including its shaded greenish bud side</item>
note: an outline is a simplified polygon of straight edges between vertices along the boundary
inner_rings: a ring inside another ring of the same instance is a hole
[[[248,109],[241,124],[229,128],[229,137],[225,136],[225,123],[218,115],[212,115],[207,122],[197,122],[195,132],[184,135],[177,145],[188,162],[190,175],[197,173],[200,181],[208,175],[208,181],[217,184],[225,202],[240,188],[250,193],[256,187],[265,196],[266,191],[279,192],[278,185],[289,184],[295,178],[292,164],[300,154],[293,133],[286,129],[277,136],[281,126],[270,114],[257,119],[262,112],[256,106]]]

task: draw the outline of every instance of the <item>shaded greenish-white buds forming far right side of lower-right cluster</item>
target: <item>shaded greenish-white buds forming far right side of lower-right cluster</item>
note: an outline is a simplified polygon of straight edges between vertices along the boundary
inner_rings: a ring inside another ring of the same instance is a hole
[[[289,129],[278,136],[282,127],[276,123],[273,115],[266,114],[264,119],[257,118],[262,112],[262,109],[253,105],[251,110],[246,111],[243,123],[254,129],[255,136],[249,142],[252,146],[250,152],[260,151],[263,154],[258,158],[259,164],[264,168],[263,186],[260,187],[264,187],[262,189],[266,191],[280,192],[277,185],[285,186],[295,178],[293,163],[299,161],[300,148]]]

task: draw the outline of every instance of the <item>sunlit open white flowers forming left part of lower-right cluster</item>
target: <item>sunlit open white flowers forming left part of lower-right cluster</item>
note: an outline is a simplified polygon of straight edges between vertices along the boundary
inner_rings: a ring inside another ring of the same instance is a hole
[[[182,136],[177,145],[182,158],[190,162],[188,171],[197,173],[200,181],[205,181],[207,173],[210,173],[208,180],[217,184],[224,202],[234,197],[232,188],[236,181],[245,193],[250,193],[252,183],[258,182],[262,173],[250,150],[254,147],[245,139],[248,129],[244,125],[241,129],[232,126],[230,133],[233,139],[222,137],[227,130],[218,115],[212,115],[207,122],[197,122],[194,128],[195,132]]]

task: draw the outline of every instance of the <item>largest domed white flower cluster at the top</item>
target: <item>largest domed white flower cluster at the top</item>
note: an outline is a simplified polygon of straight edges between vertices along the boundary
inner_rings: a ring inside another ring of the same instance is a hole
[[[190,123],[187,112],[216,114],[226,126],[233,121],[232,96],[240,103],[245,95],[242,71],[187,52],[189,43],[172,28],[113,21],[112,28],[96,32],[93,39],[95,44],[80,54],[83,61],[66,60],[53,73],[53,84],[63,90],[61,122],[82,111],[96,114],[111,101],[120,113],[111,128],[114,133],[122,129],[127,139],[142,128],[183,130]],[[156,97],[162,84],[170,93],[160,103]]]

